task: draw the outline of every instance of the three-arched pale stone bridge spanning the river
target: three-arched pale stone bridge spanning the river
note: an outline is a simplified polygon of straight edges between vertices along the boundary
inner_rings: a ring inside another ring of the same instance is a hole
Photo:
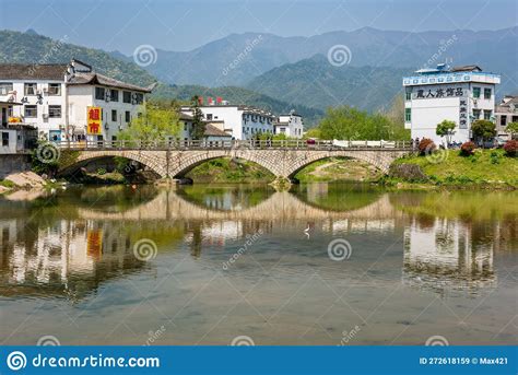
[[[332,143],[307,144],[303,141],[282,141],[283,143],[250,142],[228,144],[197,144],[195,147],[146,147],[122,148],[120,144],[95,144],[95,147],[61,147],[75,152],[69,161],[60,165],[60,172],[81,166],[90,161],[103,157],[119,156],[145,165],[161,177],[179,178],[199,164],[217,157],[243,159],[257,163],[270,171],[278,178],[291,179],[305,166],[327,157],[352,157],[374,165],[386,173],[390,164],[412,150],[407,144],[365,142],[353,147],[335,147]],[[296,143],[295,143],[296,142]],[[364,141],[362,141],[364,142]],[[380,142],[380,141],[377,141]]]

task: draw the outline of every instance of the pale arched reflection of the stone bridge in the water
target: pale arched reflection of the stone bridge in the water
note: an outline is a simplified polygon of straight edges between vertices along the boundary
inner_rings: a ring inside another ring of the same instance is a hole
[[[323,219],[395,219],[402,212],[395,209],[388,195],[363,208],[330,211],[309,204],[291,192],[276,191],[262,202],[243,210],[214,210],[192,203],[172,191],[161,191],[153,200],[123,212],[79,209],[82,219],[92,220],[323,220]]]

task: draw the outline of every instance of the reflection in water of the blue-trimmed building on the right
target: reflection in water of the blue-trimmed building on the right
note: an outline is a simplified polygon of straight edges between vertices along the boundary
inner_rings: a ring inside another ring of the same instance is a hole
[[[459,220],[411,220],[404,230],[404,283],[440,292],[495,286],[493,241],[483,228]]]

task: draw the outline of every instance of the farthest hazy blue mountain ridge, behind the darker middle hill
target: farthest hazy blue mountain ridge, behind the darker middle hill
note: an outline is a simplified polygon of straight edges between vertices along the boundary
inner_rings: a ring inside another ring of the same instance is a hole
[[[310,37],[245,33],[231,34],[190,51],[157,49],[156,63],[146,69],[167,83],[245,85],[273,68],[315,55],[327,56],[332,47],[346,46],[351,67],[416,70],[448,59],[452,65],[475,63],[486,71],[503,74],[508,78],[503,82],[504,87],[507,81],[518,82],[517,45],[518,26],[498,31],[419,33],[363,27]]]

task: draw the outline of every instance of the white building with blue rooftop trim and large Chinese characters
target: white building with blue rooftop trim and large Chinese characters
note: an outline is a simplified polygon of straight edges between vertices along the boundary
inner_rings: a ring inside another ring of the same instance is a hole
[[[404,126],[412,139],[429,138],[435,143],[446,140],[436,134],[437,124],[457,124],[454,142],[472,137],[471,124],[476,119],[495,120],[495,87],[501,77],[482,71],[478,66],[421,69],[403,78]]]

